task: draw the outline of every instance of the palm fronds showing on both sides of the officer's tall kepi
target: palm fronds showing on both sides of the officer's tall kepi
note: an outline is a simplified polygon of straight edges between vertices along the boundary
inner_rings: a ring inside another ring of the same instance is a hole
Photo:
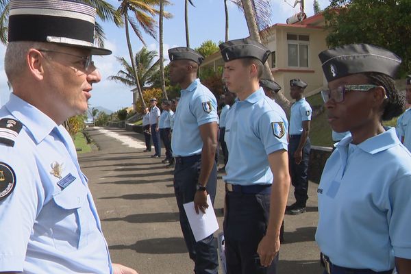
[[[7,44],[8,34],[8,14],[10,0],[0,0],[0,42]],[[121,25],[121,17],[116,14],[116,9],[107,1],[103,0],[82,0],[82,2],[96,8],[97,16],[101,21],[113,21],[116,25]],[[97,45],[104,47],[105,35],[99,23],[96,22]]]

